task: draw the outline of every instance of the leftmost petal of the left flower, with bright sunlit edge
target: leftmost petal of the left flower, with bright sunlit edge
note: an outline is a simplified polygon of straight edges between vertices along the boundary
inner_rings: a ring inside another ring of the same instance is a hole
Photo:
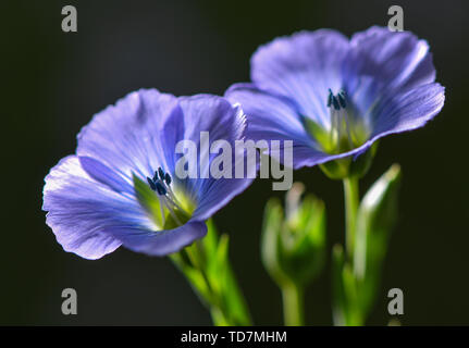
[[[106,228],[143,223],[139,207],[92,179],[75,156],[62,159],[46,177],[42,210],[64,250],[86,259],[99,259],[121,245]]]

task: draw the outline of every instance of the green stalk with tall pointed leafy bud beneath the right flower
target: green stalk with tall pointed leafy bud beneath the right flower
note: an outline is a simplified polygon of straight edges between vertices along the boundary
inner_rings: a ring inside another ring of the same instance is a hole
[[[387,170],[359,200],[358,178],[344,179],[346,250],[333,250],[334,324],[362,325],[379,290],[387,241],[397,216],[400,169]]]

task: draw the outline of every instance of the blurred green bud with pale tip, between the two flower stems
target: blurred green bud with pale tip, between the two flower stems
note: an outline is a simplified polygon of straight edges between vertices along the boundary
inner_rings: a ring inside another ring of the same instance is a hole
[[[323,268],[325,256],[324,203],[307,196],[295,183],[286,195],[285,213],[280,201],[266,207],[261,254],[271,277],[279,284],[306,286]]]

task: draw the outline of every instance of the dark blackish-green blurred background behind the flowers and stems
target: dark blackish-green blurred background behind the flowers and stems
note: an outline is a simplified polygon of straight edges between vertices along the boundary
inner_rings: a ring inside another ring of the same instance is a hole
[[[73,4],[78,33],[61,30]],[[425,38],[441,114],[422,129],[381,141],[365,190],[392,163],[404,179],[379,301],[369,324],[386,324],[386,294],[405,295],[405,325],[469,324],[467,141],[468,40],[464,1],[2,1],[0,324],[210,324],[184,277],[165,258],[123,248],[98,261],[66,253],[45,224],[44,177],[73,153],[91,115],[127,92],[156,87],[175,95],[223,94],[248,80],[249,58],[276,36],[336,28],[346,35],[404,25]],[[318,169],[295,172],[323,198],[329,244],[343,240],[342,185]],[[281,298],[262,269],[259,233],[269,181],[257,181],[215,216],[231,236],[231,259],[257,324],[280,324]],[[330,262],[307,297],[309,324],[331,324]],[[78,315],[61,313],[61,291],[78,294]]]

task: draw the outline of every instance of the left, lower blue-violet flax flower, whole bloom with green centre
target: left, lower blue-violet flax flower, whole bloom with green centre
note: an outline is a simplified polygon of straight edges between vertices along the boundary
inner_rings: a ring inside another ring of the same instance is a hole
[[[64,250],[86,259],[121,245],[151,256],[177,251],[203,237],[205,221],[251,179],[217,179],[207,165],[180,178],[176,144],[194,141],[210,165],[214,156],[200,150],[200,132],[209,132],[210,144],[233,145],[245,129],[240,108],[222,97],[132,92],[96,114],[78,134],[76,154],[47,175],[47,224]]]

